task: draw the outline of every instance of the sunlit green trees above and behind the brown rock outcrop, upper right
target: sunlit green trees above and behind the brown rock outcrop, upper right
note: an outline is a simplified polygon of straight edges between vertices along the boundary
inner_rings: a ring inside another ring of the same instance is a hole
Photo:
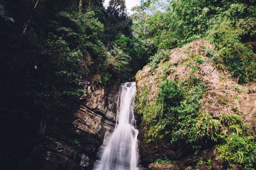
[[[134,32],[144,41],[156,66],[163,53],[194,39],[216,46],[216,63],[227,67],[239,83],[255,81],[255,1],[150,1],[141,2],[134,13]],[[155,54],[156,53],[156,54]],[[154,68],[153,67],[153,68]]]

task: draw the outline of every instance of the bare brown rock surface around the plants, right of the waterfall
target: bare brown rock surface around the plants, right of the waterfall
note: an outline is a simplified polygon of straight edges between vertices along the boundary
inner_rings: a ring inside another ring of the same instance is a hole
[[[212,118],[223,115],[238,114],[243,117],[244,124],[256,125],[256,86],[248,83],[239,85],[224,67],[216,66],[211,57],[214,52],[212,45],[205,40],[195,40],[182,47],[170,50],[168,60],[162,60],[159,67],[152,71],[149,66],[143,67],[136,74],[138,100],[144,89],[148,89],[147,102],[156,100],[157,90],[163,82],[163,77],[173,81],[188,81],[197,77],[204,81],[207,91],[202,96],[201,111],[209,113]],[[200,61],[195,59],[200,57]],[[202,62],[201,62],[202,61]],[[141,115],[143,117],[143,115]],[[218,157],[216,143],[202,144],[205,149],[197,155],[191,146],[178,141],[170,143],[170,136],[148,142],[147,122],[140,124],[140,157],[141,163],[148,169],[227,169],[227,162]],[[168,158],[168,161],[156,160]],[[200,160],[211,160],[204,162]],[[199,162],[199,163],[198,163]],[[236,169],[236,167],[233,167]]]

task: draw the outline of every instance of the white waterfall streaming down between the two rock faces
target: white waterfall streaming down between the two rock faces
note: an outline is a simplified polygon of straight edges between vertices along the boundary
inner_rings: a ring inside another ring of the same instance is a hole
[[[96,170],[138,169],[138,130],[135,129],[133,113],[135,91],[135,82],[123,83],[119,87],[116,127]]]

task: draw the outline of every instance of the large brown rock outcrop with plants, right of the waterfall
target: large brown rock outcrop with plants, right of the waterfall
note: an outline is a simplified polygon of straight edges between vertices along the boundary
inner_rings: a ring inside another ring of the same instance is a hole
[[[235,164],[255,168],[256,150],[244,146],[241,139],[253,138],[254,142],[247,141],[256,144],[256,85],[239,85],[225,67],[214,62],[215,53],[209,41],[198,39],[170,50],[169,59],[161,60],[158,67],[145,66],[136,74],[140,157],[144,166],[168,157],[181,169],[227,169]],[[164,86],[165,81],[169,83]],[[176,90],[170,82],[177,84]],[[175,97],[178,90],[180,99]],[[243,152],[243,157],[252,157],[253,161],[230,158],[234,156],[228,154],[232,146],[225,150],[223,145],[229,145],[234,133],[239,136],[239,145],[243,145],[237,146],[243,148],[237,152],[250,150]],[[209,150],[214,152],[204,153]],[[198,159],[191,159],[195,153]],[[201,159],[209,162],[197,165]]]

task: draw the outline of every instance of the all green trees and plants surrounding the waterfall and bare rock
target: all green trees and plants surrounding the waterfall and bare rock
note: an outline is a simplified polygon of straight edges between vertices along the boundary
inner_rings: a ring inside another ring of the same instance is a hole
[[[194,39],[211,41],[216,48],[212,59],[239,83],[255,81],[255,4],[142,0],[129,17],[124,0],[109,1],[107,9],[103,0],[0,0],[2,166],[26,169],[25,158],[44,138],[46,122],[68,113],[67,99],[83,96],[81,80],[95,85],[131,80],[148,62],[154,70],[168,58],[167,50]],[[172,69],[166,66],[166,71]],[[138,108],[152,125],[150,140],[171,135],[170,142],[186,139],[195,152],[202,141],[212,141],[220,144],[220,156],[230,165],[253,167],[255,141],[245,137],[241,117],[217,120],[200,112],[204,92],[204,82],[197,78],[166,80],[155,103],[148,105],[145,89]],[[212,126],[205,127],[205,121]],[[237,152],[243,157],[236,157]]]

